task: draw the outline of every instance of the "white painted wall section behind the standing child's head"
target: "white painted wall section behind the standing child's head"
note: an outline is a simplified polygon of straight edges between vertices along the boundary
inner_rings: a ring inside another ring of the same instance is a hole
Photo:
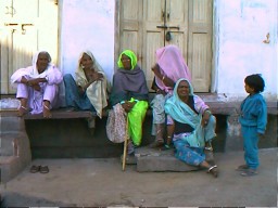
[[[217,92],[247,95],[244,78],[262,74],[267,99],[277,99],[277,0],[217,0]],[[266,34],[270,43],[266,44]]]

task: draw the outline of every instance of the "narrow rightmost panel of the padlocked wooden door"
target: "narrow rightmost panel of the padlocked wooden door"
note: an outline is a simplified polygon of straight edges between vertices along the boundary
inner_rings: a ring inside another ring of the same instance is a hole
[[[212,72],[212,0],[189,1],[188,67],[197,92],[210,92]]]

